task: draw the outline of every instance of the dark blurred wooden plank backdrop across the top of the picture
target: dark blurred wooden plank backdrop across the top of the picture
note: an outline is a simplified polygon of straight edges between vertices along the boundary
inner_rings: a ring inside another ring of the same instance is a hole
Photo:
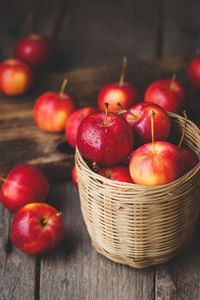
[[[200,48],[200,1],[1,0],[0,59],[31,32],[54,40],[56,69],[151,60]]]

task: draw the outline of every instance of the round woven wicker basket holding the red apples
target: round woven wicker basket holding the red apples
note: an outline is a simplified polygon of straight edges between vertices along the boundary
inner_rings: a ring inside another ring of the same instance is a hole
[[[169,113],[178,142],[184,118]],[[188,121],[184,144],[200,158],[200,130]],[[76,149],[81,210],[98,252],[135,268],[168,261],[191,242],[200,208],[200,163],[166,185],[112,181],[93,172]]]

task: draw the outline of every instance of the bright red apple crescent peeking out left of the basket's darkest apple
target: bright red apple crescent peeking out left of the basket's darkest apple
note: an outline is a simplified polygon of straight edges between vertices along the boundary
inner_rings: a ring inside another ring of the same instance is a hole
[[[81,121],[88,115],[96,112],[98,112],[96,108],[84,107],[74,111],[69,116],[65,128],[65,136],[66,136],[66,140],[73,148],[76,148],[76,135]]]

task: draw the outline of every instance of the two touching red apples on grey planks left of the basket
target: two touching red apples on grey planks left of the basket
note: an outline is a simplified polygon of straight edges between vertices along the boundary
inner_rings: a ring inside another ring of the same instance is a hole
[[[14,167],[7,178],[0,178],[2,204],[15,213],[11,225],[11,240],[29,254],[50,252],[64,236],[61,213],[43,203],[49,192],[45,174],[35,166]]]

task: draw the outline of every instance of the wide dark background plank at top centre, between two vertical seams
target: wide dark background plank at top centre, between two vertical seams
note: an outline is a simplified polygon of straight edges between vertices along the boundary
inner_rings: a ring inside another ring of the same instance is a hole
[[[66,68],[156,57],[157,0],[67,1],[57,47]]]

